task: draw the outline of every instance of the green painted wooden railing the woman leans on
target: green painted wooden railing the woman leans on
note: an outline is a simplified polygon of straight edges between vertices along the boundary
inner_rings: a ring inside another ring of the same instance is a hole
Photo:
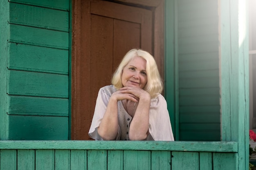
[[[0,141],[1,170],[236,170],[237,142]]]

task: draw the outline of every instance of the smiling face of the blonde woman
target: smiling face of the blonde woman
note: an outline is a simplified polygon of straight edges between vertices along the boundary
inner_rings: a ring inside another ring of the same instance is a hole
[[[146,60],[141,57],[134,57],[124,67],[121,81],[123,86],[133,86],[143,89],[148,81]]]

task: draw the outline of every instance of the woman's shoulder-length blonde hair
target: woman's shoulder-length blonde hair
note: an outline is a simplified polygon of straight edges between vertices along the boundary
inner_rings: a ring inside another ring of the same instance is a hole
[[[150,94],[151,98],[155,98],[163,90],[162,79],[158,72],[154,57],[149,52],[141,49],[132,49],[126,53],[121,63],[117,67],[117,70],[112,76],[112,85],[114,85],[117,89],[123,87],[121,82],[123,69],[134,57],[141,57],[146,60],[146,72],[148,81],[143,89]]]

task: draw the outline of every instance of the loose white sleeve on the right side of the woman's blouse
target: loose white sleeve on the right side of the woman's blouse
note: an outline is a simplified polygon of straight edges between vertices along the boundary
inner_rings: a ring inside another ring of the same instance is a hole
[[[150,102],[149,133],[155,141],[174,141],[167,103],[161,94]]]

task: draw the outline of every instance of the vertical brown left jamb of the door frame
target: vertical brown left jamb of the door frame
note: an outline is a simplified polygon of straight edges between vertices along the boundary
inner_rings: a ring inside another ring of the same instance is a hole
[[[85,87],[92,85],[87,78],[90,78],[90,72],[93,70],[90,67],[92,58],[90,0],[72,0],[72,30],[71,139],[89,140],[90,137],[85,131],[90,128],[91,123],[85,123],[88,115],[84,113],[90,113],[90,102],[86,102],[90,101],[88,98],[90,90],[85,90]]]

